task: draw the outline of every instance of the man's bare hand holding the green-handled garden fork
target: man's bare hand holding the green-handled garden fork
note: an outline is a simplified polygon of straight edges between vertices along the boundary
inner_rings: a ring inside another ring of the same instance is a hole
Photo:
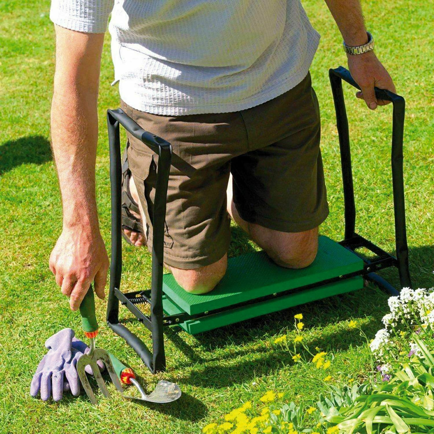
[[[50,270],[72,310],[80,307],[89,286],[104,299],[109,257],[99,230],[90,227],[63,228],[50,255]]]

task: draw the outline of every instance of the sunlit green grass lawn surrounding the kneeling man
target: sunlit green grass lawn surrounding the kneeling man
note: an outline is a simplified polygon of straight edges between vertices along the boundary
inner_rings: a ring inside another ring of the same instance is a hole
[[[330,67],[345,65],[342,41],[325,3],[304,2],[322,34],[312,65],[312,81],[322,110],[322,152],[331,214],[321,231],[341,239],[342,185],[338,137],[328,81]],[[432,2],[395,0],[365,2],[367,27],[377,54],[407,101],[404,171],[410,265],[414,287],[434,286],[433,192],[434,43]],[[322,384],[313,364],[294,364],[273,340],[289,330],[302,312],[308,343],[333,352],[333,381],[362,378],[368,350],[355,319],[373,337],[385,313],[387,295],[374,287],[312,302],[198,336],[170,329],[165,335],[168,370],[152,376],[135,352],[104,324],[105,303],[97,301],[101,333],[98,344],[130,364],[152,388],[159,378],[177,382],[182,398],[167,406],[125,401],[110,386],[113,399],[92,407],[85,396],[44,403],[29,395],[30,380],[45,353],[44,342],[63,327],[80,331],[78,313],[56,287],[48,268],[49,253],[61,231],[61,205],[49,145],[49,109],[54,73],[54,31],[49,1],[0,2],[0,432],[1,433],[198,433],[205,424],[247,400],[253,404],[269,389],[286,401],[315,402]],[[102,234],[110,239],[109,155],[105,110],[118,106],[106,35],[99,101],[100,132],[97,195]],[[391,200],[391,106],[370,112],[345,86],[353,144],[357,230],[394,250]],[[284,113],[282,114],[284,115]],[[73,122],[73,119],[71,119]],[[109,246],[108,246],[109,247]],[[251,248],[234,228],[230,254]],[[150,256],[125,247],[123,290],[150,285]],[[383,273],[398,284],[395,271]],[[131,318],[126,309],[122,318]],[[148,332],[129,324],[139,336]]]

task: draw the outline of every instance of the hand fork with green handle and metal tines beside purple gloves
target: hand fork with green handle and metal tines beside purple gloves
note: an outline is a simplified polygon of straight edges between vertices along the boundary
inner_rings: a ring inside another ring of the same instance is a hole
[[[109,354],[100,348],[95,348],[95,338],[98,334],[98,322],[95,316],[95,297],[93,295],[92,285],[84,296],[84,299],[80,305],[80,314],[82,316],[82,327],[86,338],[90,339],[90,351],[88,354],[82,355],[77,362],[77,372],[79,374],[83,389],[85,390],[87,396],[89,397],[92,404],[96,404],[96,398],[90,386],[89,380],[86,376],[85,367],[90,365],[93,371],[96,382],[102,391],[102,394],[106,398],[110,398],[109,391],[105,386],[104,379],[97,365],[97,361],[101,360],[105,363],[107,372],[109,372],[110,378],[112,379],[115,386],[120,392],[123,391],[122,385],[116,376],[115,370],[113,368],[112,362],[110,360]]]

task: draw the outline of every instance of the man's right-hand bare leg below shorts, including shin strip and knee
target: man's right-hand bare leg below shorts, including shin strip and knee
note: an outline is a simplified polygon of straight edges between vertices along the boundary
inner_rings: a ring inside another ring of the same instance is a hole
[[[233,220],[276,264],[286,268],[304,268],[315,259],[318,251],[318,228],[304,232],[281,232],[243,220],[232,200],[232,175],[227,187],[227,204],[227,211]]]

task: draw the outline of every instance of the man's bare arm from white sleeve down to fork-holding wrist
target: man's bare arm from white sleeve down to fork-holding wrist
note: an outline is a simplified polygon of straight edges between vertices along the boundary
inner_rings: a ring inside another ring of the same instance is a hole
[[[56,35],[51,138],[62,194],[63,224],[97,227],[95,158],[103,36],[71,33],[59,27]],[[71,38],[76,38],[75,44]]]

